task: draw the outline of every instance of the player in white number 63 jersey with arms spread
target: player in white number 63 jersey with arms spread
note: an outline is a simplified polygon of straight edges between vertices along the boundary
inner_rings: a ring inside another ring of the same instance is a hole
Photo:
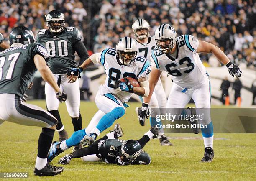
[[[169,24],[162,24],[156,29],[155,39],[157,47],[151,52],[151,59],[154,63],[152,63],[149,78],[150,93],[148,97],[145,97],[145,103],[150,102],[161,72],[166,71],[172,75],[174,82],[166,108],[183,109],[192,98],[196,108],[210,109],[210,79],[199,58],[200,52],[214,54],[221,63],[228,67],[232,76],[241,76],[239,67],[233,64],[220,48],[205,41],[198,41],[191,35],[177,37],[176,31]],[[142,109],[148,108],[143,106]],[[146,112],[143,116],[146,117]],[[214,152],[210,112],[201,120],[201,124],[207,125],[207,129],[201,129],[205,144],[205,155],[201,162],[211,162]]]

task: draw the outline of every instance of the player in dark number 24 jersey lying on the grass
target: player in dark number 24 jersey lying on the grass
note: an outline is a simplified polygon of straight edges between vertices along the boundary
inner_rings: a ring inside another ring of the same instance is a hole
[[[59,160],[61,164],[67,164],[73,158],[81,158],[83,161],[105,161],[118,165],[143,164],[149,165],[151,157],[142,148],[151,138],[156,138],[158,130],[151,127],[139,140],[114,139],[114,134],[108,133],[92,145],[68,154]]]

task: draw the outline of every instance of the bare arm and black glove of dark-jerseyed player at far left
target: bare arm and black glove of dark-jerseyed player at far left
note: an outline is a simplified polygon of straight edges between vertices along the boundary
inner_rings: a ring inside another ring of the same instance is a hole
[[[34,56],[34,63],[38,71],[40,72],[42,78],[44,81],[46,81],[50,86],[54,89],[56,92],[56,97],[59,99],[60,102],[66,101],[67,99],[67,94],[64,92],[61,92],[59,89],[58,84],[54,80],[54,76],[49,69],[49,67],[46,65],[45,59],[41,55],[35,55]]]

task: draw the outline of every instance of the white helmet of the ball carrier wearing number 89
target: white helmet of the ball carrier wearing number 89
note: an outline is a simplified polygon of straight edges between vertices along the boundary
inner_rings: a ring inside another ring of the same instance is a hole
[[[137,55],[137,43],[131,37],[121,38],[116,45],[118,63],[121,65],[131,65]]]

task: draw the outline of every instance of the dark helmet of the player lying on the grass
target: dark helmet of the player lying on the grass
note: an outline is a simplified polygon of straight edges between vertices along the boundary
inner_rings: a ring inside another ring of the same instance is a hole
[[[118,161],[124,164],[132,163],[141,154],[141,145],[136,140],[127,140],[121,146]]]

